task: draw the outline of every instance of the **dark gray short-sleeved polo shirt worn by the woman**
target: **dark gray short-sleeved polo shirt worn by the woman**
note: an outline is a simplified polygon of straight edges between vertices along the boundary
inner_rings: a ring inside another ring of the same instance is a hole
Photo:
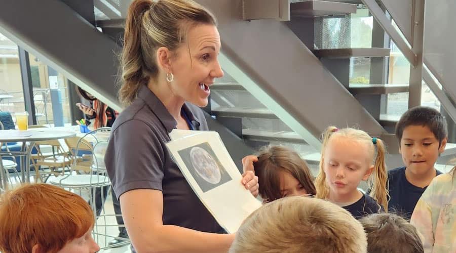
[[[203,111],[182,107],[195,130],[208,130]],[[133,189],[163,192],[163,224],[221,233],[173,161],[165,143],[176,121],[146,86],[112,125],[105,163],[116,196]]]

